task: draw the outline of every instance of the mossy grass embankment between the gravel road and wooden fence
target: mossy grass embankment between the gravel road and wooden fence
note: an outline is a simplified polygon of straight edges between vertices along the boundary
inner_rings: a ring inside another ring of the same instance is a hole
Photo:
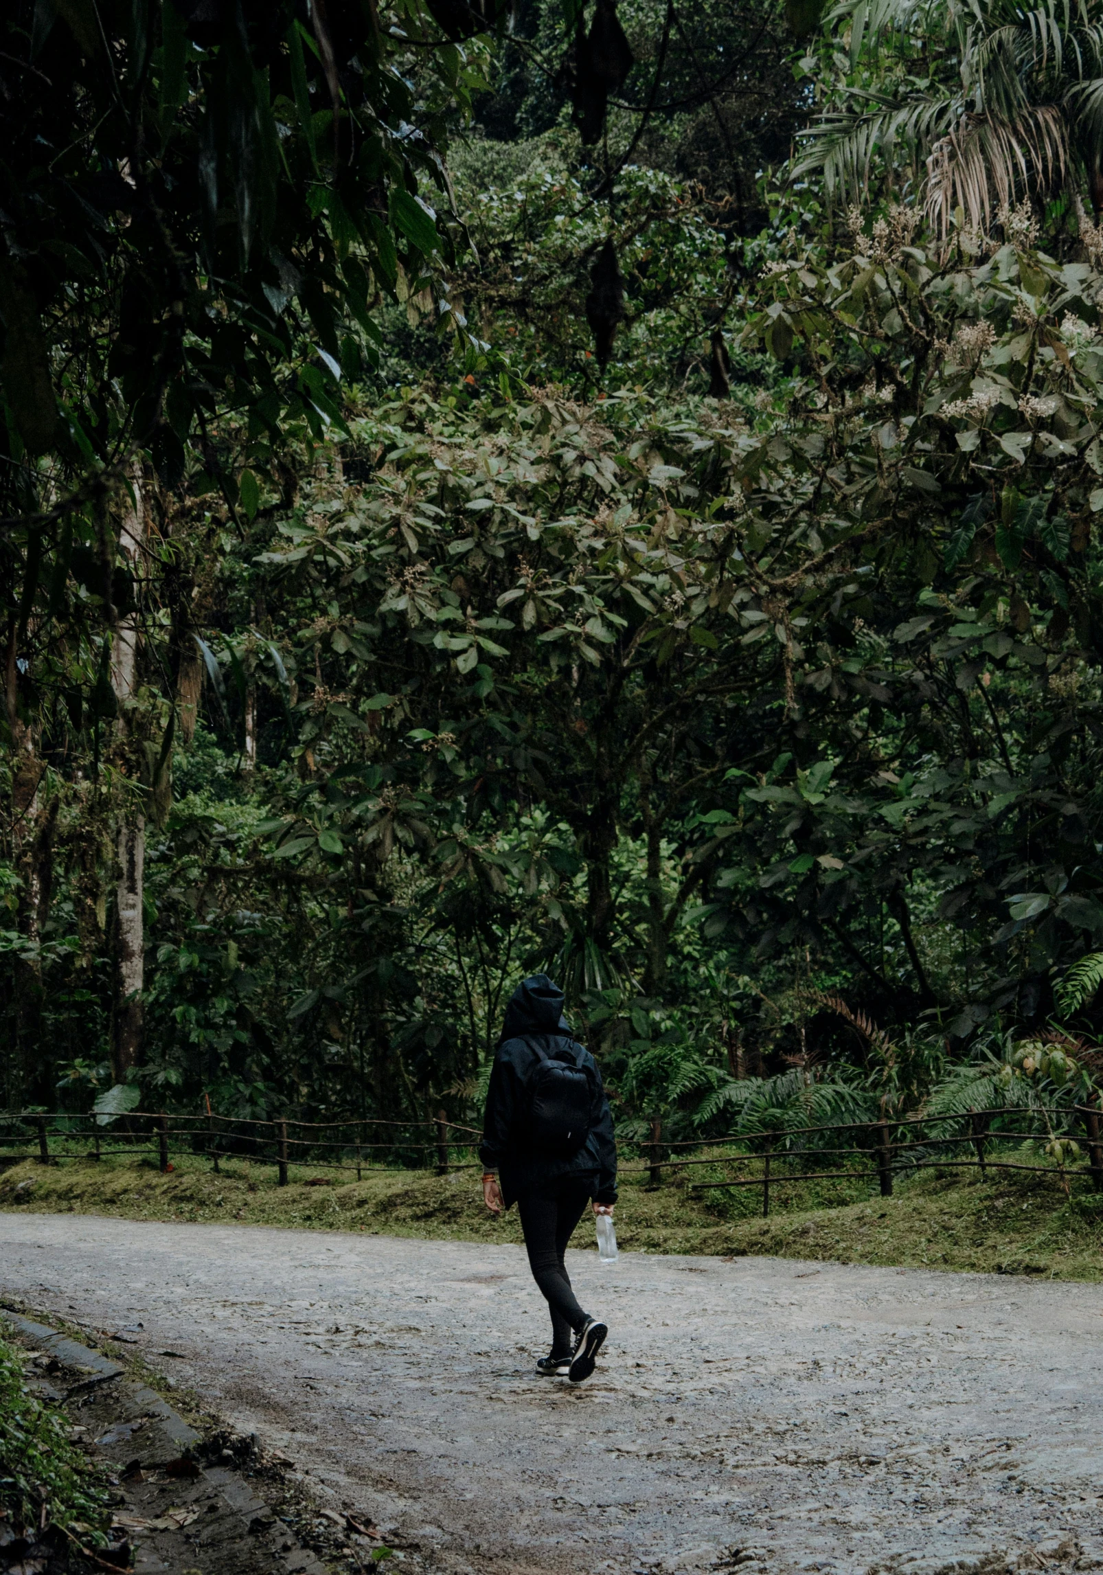
[[[1016,1153],[1018,1162],[1027,1156]],[[416,1170],[364,1172],[362,1181],[325,1167],[292,1167],[277,1188],[271,1166],[173,1156],[161,1175],[148,1159],[25,1162],[0,1175],[5,1211],[109,1214],[123,1219],[217,1221],[307,1230],[355,1230],[449,1241],[520,1241],[517,1211],[500,1221],[482,1208],[477,1170],[436,1177]],[[761,1192],[700,1194],[692,1181],[719,1178],[701,1167],[667,1175],[624,1175],[616,1228],[637,1252],[764,1254],[939,1269],[999,1271],[1060,1279],[1103,1279],[1103,1195],[1083,1178],[1065,1194],[1051,1167],[1026,1172],[920,1172],[897,1178],[881,1199],[867,1178],[786,1184],[774,1181],[771,1217]],[[32,1181],[32,1188],[20,1183]],[[17,1197],[17,1189],[20,1189]],[[588,1233],[577,1238],[586,1243]]]

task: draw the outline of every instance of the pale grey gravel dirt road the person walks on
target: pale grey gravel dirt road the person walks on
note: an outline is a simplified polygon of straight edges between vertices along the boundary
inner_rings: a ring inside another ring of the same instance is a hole
[[[520,1247],[0,1214],[3,1293],[140,1325],[407,1572],[1103,1569],[1098,1287],[569,1266],[611,1331],[577,1389],[533,1377],[547,1318]]]

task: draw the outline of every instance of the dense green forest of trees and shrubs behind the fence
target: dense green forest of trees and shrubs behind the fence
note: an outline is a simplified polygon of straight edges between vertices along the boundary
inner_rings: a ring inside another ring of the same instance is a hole
[[[8,1110],[1090,1093],[1097,16],[5,8]]]

